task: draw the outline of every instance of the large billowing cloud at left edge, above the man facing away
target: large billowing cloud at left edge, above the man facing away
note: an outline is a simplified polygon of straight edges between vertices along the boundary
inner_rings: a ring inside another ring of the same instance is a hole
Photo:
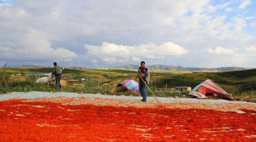
[[[52,48],[47,36],[33,29],[16,42],[18,47],[0,45],[0,60],[71,61],[77,56],[63,47]]]

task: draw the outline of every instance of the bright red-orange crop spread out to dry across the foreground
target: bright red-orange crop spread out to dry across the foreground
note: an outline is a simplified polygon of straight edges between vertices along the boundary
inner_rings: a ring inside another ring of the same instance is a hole
[[[0,102],[0,141],[256,141],[256,111]]]

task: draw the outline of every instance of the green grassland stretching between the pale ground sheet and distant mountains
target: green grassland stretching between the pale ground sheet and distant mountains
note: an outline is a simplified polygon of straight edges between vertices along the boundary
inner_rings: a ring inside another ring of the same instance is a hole
[[[54,84],[36,83],[39,76],[31,76],[29,78],[24,75],[20,80],[12,77],[11,73],[50,73],[52,68],[47,67],[23,67],[23,68],[2,68],[0,72],[0,94],[12,91],[44,91],[44,92],[74,92],[74,93],[102,93],[108,95],[129,95],[129,92],[112,93],[110,90],[115,85],[102,86],[101,84],[119,81],[123,79],[134,79],[138,81],[136,69],[64,69],[63,77],[66,79],[81,79],[85,86],[63,86],[62,89],[56,89]],[[103,75],[108,77],[104,77]],[[245,71],[214,71],[214,72],[191,72],[181,71],[160,71],[150,75],[151,90],[156,87],[176,87],[190,86],[192,89],[206,79],[211,79],[222,87],[227,93],[232,94],[234,99],[256,102],[256,69]],[[156,96],[162,97],[182,97],[187,93],[176,92],[153,92]],[[148,92],[150,96],[151,93]]]

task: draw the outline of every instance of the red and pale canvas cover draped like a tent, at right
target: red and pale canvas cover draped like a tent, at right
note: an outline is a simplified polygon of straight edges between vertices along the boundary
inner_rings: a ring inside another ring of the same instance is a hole
[[[224,99],[234,100],[231,95],[226,93],[226,91],[224,91],[219,85],[210,79],[207,79],[206,81],[197,85],[192,91],[190,91],[189,94],[204,99],[206,97],[205,95],[210,93],[214,96],[223,97]]]

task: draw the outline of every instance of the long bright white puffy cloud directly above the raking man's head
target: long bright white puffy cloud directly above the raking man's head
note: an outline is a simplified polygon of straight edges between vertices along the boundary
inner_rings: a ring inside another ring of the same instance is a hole
[[[87,50],[87,55],[98,57],[102,61],[109,63],[122,63],[130,59],[139,61],[140,58],[163,59],[169,56],[179,57],[188,53],[186,49],[172,42],[162,43],[161,45],[148,43],[137,46],[117,45],[104,42],[100,46],[85,44],[84,48]]]

